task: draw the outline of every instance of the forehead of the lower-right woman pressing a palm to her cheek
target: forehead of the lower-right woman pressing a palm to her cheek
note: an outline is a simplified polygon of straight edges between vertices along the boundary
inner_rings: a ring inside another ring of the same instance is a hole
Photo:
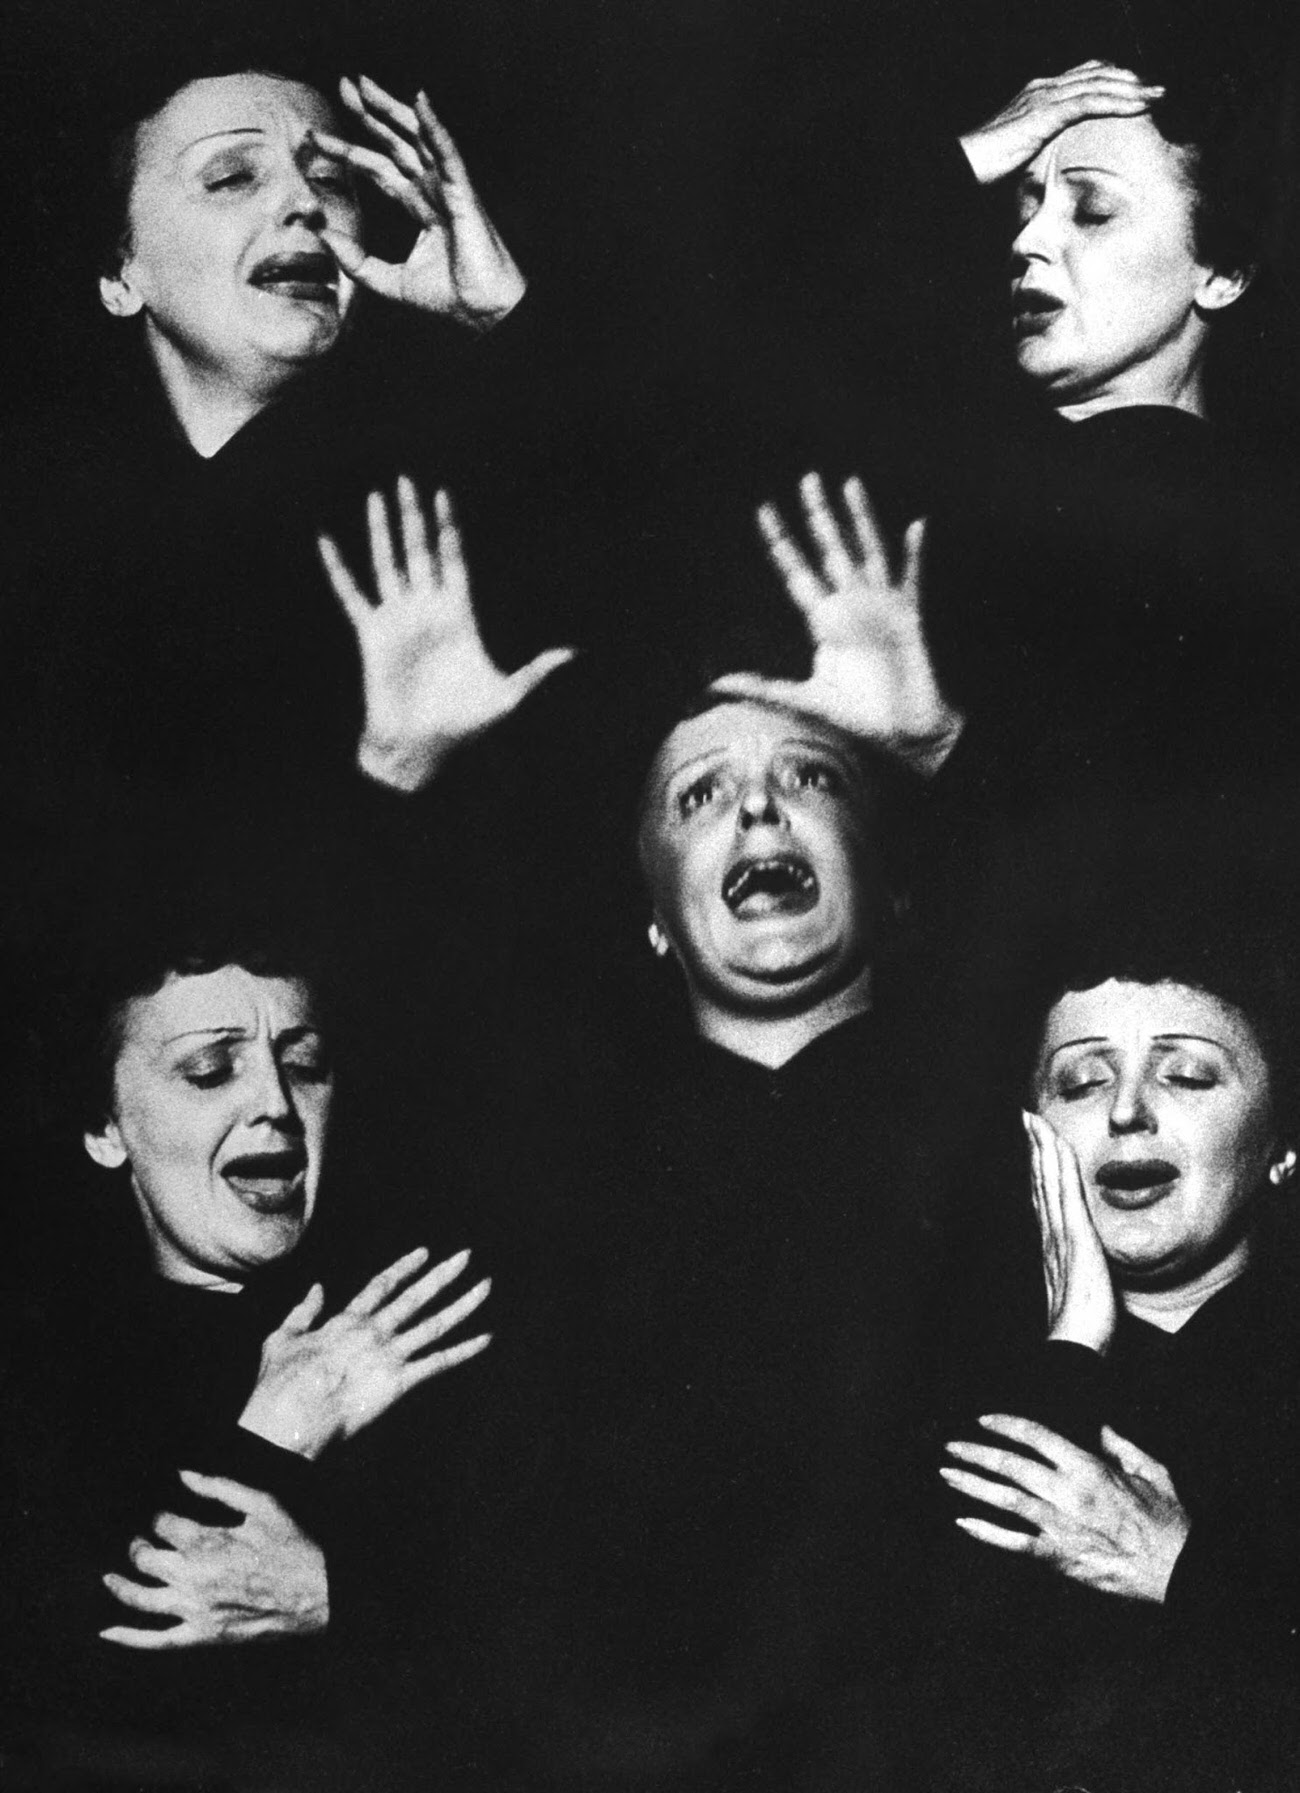
[[[1142,1051],[1162,1036],[1207,1040],[1243,1065],[1264,1061],[1255,1029],[1223,997],[1191,984],[1110,979],[1092,990],[1067,990],[1056,999],[1044,1024],[1040,1065],[1074,1040]]]

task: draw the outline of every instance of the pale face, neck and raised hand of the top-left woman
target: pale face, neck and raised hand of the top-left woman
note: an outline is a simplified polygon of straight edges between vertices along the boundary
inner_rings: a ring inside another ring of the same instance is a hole
[[[127,240],[100,299],[143,317],[172,412],[219,452],[341,339],[355,287],[475,332],[506,317],[524,278],[421,93],[375,81],[341,97],[366,143],[339,136],[314,88],[249,70],[179,88],[136,131]],[[416,224],[400,264],[364,251],[355,178]],[[301,258],[316,255],[316,269]],[[267,262],[299,258],[292,276]]]

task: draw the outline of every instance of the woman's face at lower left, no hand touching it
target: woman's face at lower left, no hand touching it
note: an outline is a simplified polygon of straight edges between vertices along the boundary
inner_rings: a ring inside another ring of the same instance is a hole
[[[126,1006],[113,1113],[86,1149],[131,1165],[160,1275],[240,1284],[310,1225],[330,1094],[303,983],[172,975]]]

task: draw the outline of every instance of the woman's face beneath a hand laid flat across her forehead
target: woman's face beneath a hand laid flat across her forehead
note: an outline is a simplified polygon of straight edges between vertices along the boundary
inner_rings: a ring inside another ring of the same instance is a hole
[[[1180,154],[1146,115],[1087,118],[1020,176],[1015,355],[1058,403],[1178,400],[1244,285],[1196,260]]]

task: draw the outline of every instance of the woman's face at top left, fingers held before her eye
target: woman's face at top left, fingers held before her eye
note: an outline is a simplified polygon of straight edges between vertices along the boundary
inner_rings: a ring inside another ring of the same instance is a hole
[[[355,237],[360,213],[316,127],[334,127],[325,99],[276,75],[174,93],[138,129],[129,247],[104,305],[143,312],[154,351],[258,391],[326,353],[353,285],[319,233]]]

